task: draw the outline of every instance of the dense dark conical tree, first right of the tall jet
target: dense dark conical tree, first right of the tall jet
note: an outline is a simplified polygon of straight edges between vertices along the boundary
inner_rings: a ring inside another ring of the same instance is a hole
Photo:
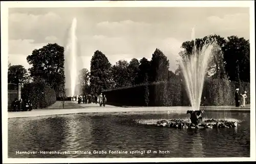
[[[113,85],[111,63],[100,51],[95,51],[91,59],[90,87],[91,92],[99,93]]]

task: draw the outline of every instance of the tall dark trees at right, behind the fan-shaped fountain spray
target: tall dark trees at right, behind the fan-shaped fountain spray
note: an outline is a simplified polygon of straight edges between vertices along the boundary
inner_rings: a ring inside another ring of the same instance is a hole
[[[220,35],[209,35],[203,38],[197,38],[182,43],[181,48],[184,50],[179,55],[184,58],[190,56],[193,51],[200,51],[204,43],[216,41],[212,56],[208,65],[208,75],[213,78],[226,78],[231,81],[249,81],[250,79],[250,44],[249,40],[230,36],[226,40]],[[196,47],[196,49],[194,49]],[[177,69],[177,72],[179,69]]]

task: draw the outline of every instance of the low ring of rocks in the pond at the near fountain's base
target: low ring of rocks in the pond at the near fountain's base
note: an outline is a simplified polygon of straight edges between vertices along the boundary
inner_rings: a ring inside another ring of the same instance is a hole
[[[227,120],[205,120],[199,124],[193,124],[189,121],[184,121],[181,119],[172,119],[172,120],[162,120],[158,121],[156,126],[168,127],[168,128],[177,128],[177,129],[204,129],[204,128],[233,128],[237,127],[237,122],[227,121]]]

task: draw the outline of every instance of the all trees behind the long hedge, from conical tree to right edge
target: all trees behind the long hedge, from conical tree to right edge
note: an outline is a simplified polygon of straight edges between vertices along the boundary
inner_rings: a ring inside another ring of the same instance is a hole
[[[216,40],[214,55],[208,66],[208,77],[228,79],[236,82],[250,82],[250,43],[249,40],[230,36],[225,39],[219,35],[205,36],[182,43],[181,58],[201,50],[207,41]],[[194,45],[196,48],[194,48]],[[130,62],[119,60],[111,66],[108,58],[100,51],[96,51],[91,60],[90,85],[92,92],[111,90],[114,88],[136,86],[144,83],[169,81],[181,78],[181,69],[169,71],[169,61],[162,51],[156,49],[152,58],[132,59]]]

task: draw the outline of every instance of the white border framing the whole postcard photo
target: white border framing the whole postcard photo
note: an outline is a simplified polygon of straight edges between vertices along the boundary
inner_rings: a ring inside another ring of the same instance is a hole
[[[8,158],[8,8],[44,7],[249,7],[250,8],[250,157],[246,158]],[[67,162],[179,162],[179,161],[255,161],[255,33],[253,1],[63,1],[1,2],[1,70],[2,70],[2,144],[3,163],[67,163]]]

